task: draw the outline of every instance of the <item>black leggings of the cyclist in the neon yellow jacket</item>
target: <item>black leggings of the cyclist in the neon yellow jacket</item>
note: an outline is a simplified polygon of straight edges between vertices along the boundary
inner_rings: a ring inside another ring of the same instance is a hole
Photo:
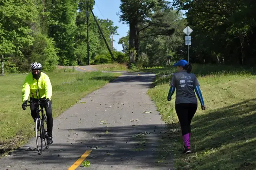
[[[32,101],[32,98],[30,99]],[[34,99],[35,102],[38,102],[38,99]],[[37,107],[38,108],[38,107]],[[52,126],[53,126],[53,118],[52,118],[52,99],[49,103],[49,107],[46,108],[44,106],[45,113],[47,116],[47,135],[52,137]],[[37,109],[34,105],[30,106],[31,116],[33,117],[34,121],[37,117]]]

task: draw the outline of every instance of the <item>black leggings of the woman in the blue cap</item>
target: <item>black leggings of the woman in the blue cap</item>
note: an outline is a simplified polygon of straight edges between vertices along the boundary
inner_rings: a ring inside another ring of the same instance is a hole
[[[175,105],[175,110],[180,121],[182,136],[191,133],[191,120],[196,113],[197,104],[179,103]]]

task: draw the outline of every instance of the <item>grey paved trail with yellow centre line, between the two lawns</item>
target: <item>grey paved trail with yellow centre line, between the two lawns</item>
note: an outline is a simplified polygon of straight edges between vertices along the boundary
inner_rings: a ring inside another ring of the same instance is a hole
[[[86,151],[91,151],[85,155],[90,167],[79,165],[76,170],[172,169],[172,161],[165,166],[156,163],[165,126],[146,94],[154,77],[123,73],[54,119],[53,144],[42,155],[35,150],[33,138],[1,158],[0,170],[74,170],[69,167]]]

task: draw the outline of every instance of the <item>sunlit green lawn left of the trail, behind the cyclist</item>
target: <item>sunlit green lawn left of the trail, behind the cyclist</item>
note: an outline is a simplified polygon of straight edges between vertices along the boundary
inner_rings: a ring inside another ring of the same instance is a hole
[[[53,88],[53,117],[80,98],[114,80],[120,73],[74,72],[59,69],[48,76]],[[26,75],[0,76],[0,154],[24,144],[34,136],[30,109],[22,110],[21,90]]]

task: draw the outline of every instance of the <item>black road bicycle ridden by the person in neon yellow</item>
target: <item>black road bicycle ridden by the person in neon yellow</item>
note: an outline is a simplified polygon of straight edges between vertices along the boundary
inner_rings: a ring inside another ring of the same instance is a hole
[[[35,91],[35,93],[36,93],[37,98],[38,98],[37,90]],[[46,149],[49,148],[49,144],[47,144],[47,129],[46,129],[47,128],[47,117],[44,114],[44,105],[45,105],[45,103],[43,102],[43,101],[45,101],[45,99],[39,99],[38,98],[38,102],[34,102],[34,94],[33,93],[31,93],[31,94],[32,94],[32,101],[28,101],[30,103],[30,105],[27,105],[27,106],[33,106],[33,105],[38,106],[38,107],[35,107],[37,109],[37,117],[35,119],[35,140],[36,140],[36,143],[37,143],[38,153],[39,153],[39,155],[41,155],[42,151],[43,151],[43,140],[44,140]],[[39,109],[39,106],[41,107],[41,109]],[[23,104],[22,104],[22,109],[26,110],[26,107]],[[42,118],[40,118],[40,112],[41,112],[41,117]],[[45,124],[46,124],[46,128],[45,128]],[[40,135],[37,134],[38,131],[40,131]],[[38,137],[40,137],[41,147],[39,146],[40,141],[38,142]]]

